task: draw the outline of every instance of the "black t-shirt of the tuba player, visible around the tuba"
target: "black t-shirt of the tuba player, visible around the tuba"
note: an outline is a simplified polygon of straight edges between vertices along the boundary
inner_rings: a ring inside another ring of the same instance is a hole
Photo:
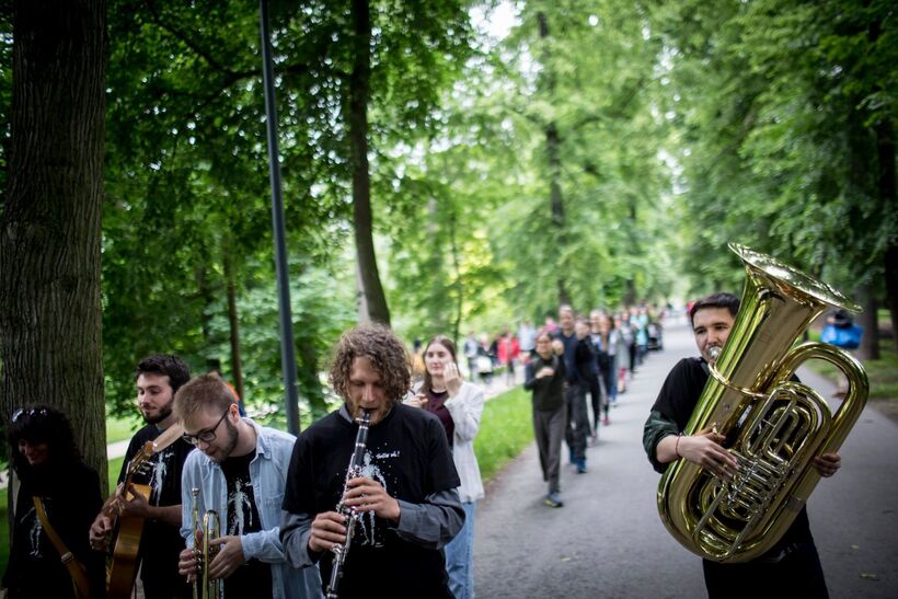
[[[677,362],[664,381],[664,385],[658,392],[658,399],[655,400],[652,410],[672,419],[677,423],[677,428],[683,430],[686,425],[689,424],[692,411],[699,403],[699,398],[707,382],[709,373],[705,370],[706,368],[705,361],[701,358],[683,358]],[[763,561],[778,555],[786,545],[808,541],[811,541],[810,525],[807,519],[807,510],[802,507],[780,542],[758,560]]]

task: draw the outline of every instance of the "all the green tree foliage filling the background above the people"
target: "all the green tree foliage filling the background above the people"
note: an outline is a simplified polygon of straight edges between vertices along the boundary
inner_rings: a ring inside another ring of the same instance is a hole
[[[368,145],[378,257],[406,338],[716,289],[751,245],[851,293],[878,290],[896,204],[888,2],[532,0],[486,42],[471,9],[371,0]],[[252,410],[281,404],[258,5],[111,2],[103,344],[111,413],[134,366],[182,355],[233,380],[235,290]],[[11,18],[0,20],[9,123]],[[345,0],[277,1],[270,25],[303,418],[355,321]],[[541,28],[542,27],[542,28]],[[9,131],[0,131],[0,187]],[[894,198],[893,198],[894,199]],[[2,199],[0,199],[2,210]],[[553,212],[553,210],[555,210]],[[134,416],[130,416],[134,417]]]

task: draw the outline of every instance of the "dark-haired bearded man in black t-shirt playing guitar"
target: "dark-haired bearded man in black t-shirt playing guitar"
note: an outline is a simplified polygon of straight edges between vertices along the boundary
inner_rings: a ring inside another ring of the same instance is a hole
[[[193,596],[191,586],[177,573],[177,556],[184,549],[180,534],[181,470],[193,446],[179,439],[154,453],[134,475],[134,483],[149,485],[149,497],[134,485],[123,488],[123,483],[128,464],[145,444],[176,424],[172,412],[174,394],[189,379],[189,368],[177,356],[157,354],[137,365],[137,406],[147,425],[131,438],[118,475],[118,488],[106,500],[90,531],[91,546],[102,550],[108,544],[116,518],[145,520],[137,561],[147,599]],[[128,492],[130,498],[127,498]]]

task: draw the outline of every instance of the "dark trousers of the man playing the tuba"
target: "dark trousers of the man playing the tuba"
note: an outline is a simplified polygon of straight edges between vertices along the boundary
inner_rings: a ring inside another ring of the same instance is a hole
[[[797,543],[778,562],[755,560],[744,564],[702,561],[710,599],[828,599],[824,569],[814,541]]]

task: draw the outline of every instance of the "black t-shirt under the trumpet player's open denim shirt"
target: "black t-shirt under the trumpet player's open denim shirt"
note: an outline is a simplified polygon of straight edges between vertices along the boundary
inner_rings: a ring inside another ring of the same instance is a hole
[[[253,481],[250,479],[253,458],[255,449],[221,462],[221,472],[228,484],[228,526],[223,534],[240,537],[262,530]],[[270,566],[255,557],[247,561],[225,579],[225,597],[273,597]]]

